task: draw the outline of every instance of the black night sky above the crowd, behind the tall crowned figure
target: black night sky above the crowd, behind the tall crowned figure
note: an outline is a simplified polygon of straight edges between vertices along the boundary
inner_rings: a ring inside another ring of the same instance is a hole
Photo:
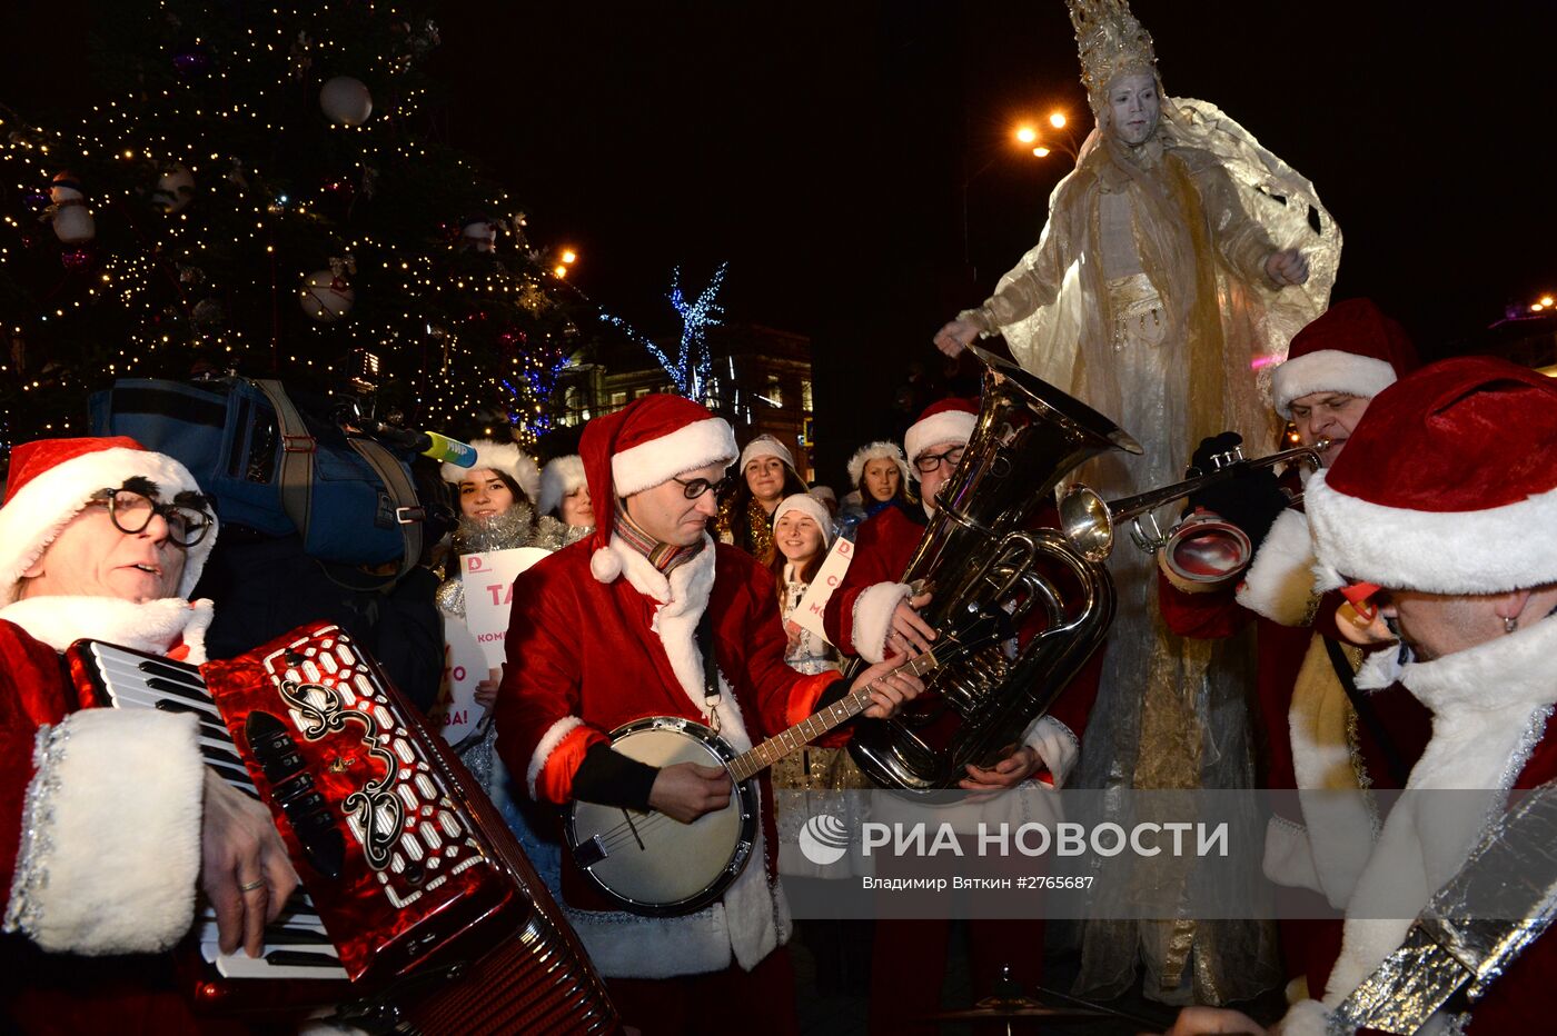
[[[23,114],[76,89],[58,33],[33,31],[72,22],[36,6],[0,42]],[[1434,356],[1557,291],[1557,5],[1135,12],[1168,93],[1314,180],[1345,235],[1336,299],[1372,296]],[[671,269],[696,289],[729,261],[727,319],[811,334],[824,470],[887,428],[906,364],[937,366],[934,330],[1037,240],[1070,162],[1015,146],[1015,121],[1091,126],[1062,0],[445,0],[436,19],[434,132],[497,173],[537,244],[578,247],[582,291],[665,333]]]

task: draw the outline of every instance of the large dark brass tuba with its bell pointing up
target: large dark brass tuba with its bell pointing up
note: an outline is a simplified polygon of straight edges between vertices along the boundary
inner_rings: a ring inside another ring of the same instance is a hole
[[[981,348],[982,409],[962,460],[937,495],[903,582],[930,591],[937,667],[905,711],[861,720],[849,745],[884,787],[953,789],[967,764],[992,765],[1045,712],[1102,642],[1113,582],[1042,509],[1070,471],[1141,446],[1102,414]],[[1017,652],[1034,608],[1046,625]],[[858,660],[849,675],[863,667]]]

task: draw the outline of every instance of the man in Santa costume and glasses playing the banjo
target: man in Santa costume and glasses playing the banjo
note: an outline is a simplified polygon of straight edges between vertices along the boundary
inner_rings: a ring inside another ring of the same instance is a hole
[[[736,457],[730,426],[674,395],[598,417],[581,442],[595,534],[514,583],[498,753],[539,801],[657,809],[690,823],[729,803],[721,768],[655,768],[612,751],[609,731],[648,716],[713,726],[736,751],[803,720],[847,691],[836,672],[785,664],[772,577],[707,532]],[[707,688],[707,614],[718,688]],[[919,692],[895,664],[867,669],[867,716]],[[777,880],[772,795],[758,782],[757,859],[713,905],[691,915],[621,913],[571,860],[562,893],[623,1020],[645,1033],[791,1033],[794,977],[783,944],[789,908]]]

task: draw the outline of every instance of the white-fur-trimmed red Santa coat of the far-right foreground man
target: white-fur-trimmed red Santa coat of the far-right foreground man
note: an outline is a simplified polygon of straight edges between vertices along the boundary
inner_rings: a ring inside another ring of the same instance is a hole
[[[1394,952],[1428,898],[1464,865],[1488,810],[1510,789],[1557,779],[1557,616],[1515,633],[1406,666],[1400,681],[1432,711],[1432,739],[1408,792],[1457,790],[1453,800],[1417,795],[1390,810],[1347,907],[1341,955],[1323,1005],[1336,1006]],[[1478,803],[1460,789],[1482,789]],[[1481,806],[1485,801],[1485,809]],[[1373,916],[1364,916],[1373,915]],[[1381,919],[1378,915],[1392,915]],[[1540,1033],[1551,1027],[1557,936],[1526,949],[1471,1010],[1470,1033]],[[1286,1036],[1322,1033],[1319,1003],[1288,1014]]]

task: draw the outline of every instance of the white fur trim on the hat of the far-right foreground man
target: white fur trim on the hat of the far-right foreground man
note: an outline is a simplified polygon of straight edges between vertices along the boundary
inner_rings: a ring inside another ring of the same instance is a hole
[[[1557,580],[1557,488],[1485,510],[1386,507],[1339,493],[1319,471],[1303,507],[1319,569],[1434,594],[1496,594]]]

